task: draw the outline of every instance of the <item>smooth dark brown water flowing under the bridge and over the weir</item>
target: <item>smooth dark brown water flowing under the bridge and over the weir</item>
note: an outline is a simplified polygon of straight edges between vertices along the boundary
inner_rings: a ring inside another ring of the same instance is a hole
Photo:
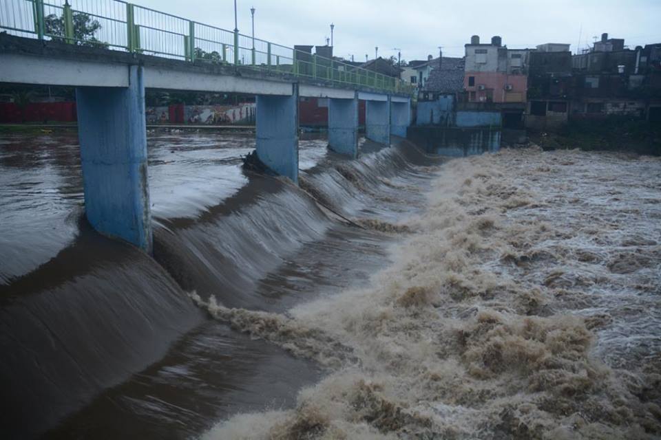
[[[368,285],[401,239],[388,225],[423,210],[431,181],[432,159],[365,140],[346,161],[306,135],[308,192],[244,173],[250,136],[152,133],[148,146],[154,258],[85,223],[75,135],[0,140],[8,438],[183,439],[292,408],[327,366],[213,320],[190,295],[284,313]]]

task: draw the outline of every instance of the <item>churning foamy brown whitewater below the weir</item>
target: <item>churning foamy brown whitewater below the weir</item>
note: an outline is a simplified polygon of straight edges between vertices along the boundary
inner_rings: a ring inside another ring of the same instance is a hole
[[[371,287],[267,314],[198,303],[328,369],[204,439],[661,435],[661,159],[505,150],[433,168]],[[193,295],[195,298],[195,296]]]

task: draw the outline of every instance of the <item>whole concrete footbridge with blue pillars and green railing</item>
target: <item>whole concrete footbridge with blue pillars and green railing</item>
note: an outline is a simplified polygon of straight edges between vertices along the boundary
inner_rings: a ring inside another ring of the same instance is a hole
[[[30,30],[26,30],[29,25],[25,23],[21,28],[0,17],[0,28],[14,34],[0,34],[0,83],[76,87],[87,219],[98,232],[145,252],[152,248],[147,88],[254,94],[258,158],[274,173],[296,183],[300,97],[328,98],[328,147],[337,153],[357,157],[359,100],[366,101],[366,136],[370,140],[389,144],[391,134],[406,136],[410,93],[395,78],[381,78],[316,56],[304,61],[297,59],[303,57],[297,57],[295,51],[290,64],[284,56],[282,60],[275,56],[275,63],[271,63],[271,43],[265,51],[266,63],[256,63],[258,54],[253,42],[251,63],[243,65],[238,61],[244,48],[238,45],[237,31],[233,63],[227,62],[225,43],[218,43],[222,44],[222,57],[212,58],[211,62],[196,60],[193,54],[200,51],[193,30],[199,23],[191,24],[190,34],[183,35],[184,56],[164,56],[143,49],[139,42],[136,48],[136,34],[141,32],[134,23],[134,8],[138,7],[123,2],[127,5],[122,23],[127,25],[128,45],[76,44],[85,41],[72,34],[71,17],[82,12],[72,11],[66,1],[62,8],[64,35],[49,36],[43,28],[43,1],[28,3],[34,6],[34,26]],[[28,36],[17,36],[24,34]],[[169,47],[172,51],[175,46]]]

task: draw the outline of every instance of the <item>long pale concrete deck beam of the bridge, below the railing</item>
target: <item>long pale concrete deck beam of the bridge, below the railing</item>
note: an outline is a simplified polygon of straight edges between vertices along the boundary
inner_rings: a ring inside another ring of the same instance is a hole
[[[338,87],[314,78],[274,74],[253,67],[199,61],[190,63],[145,54],[131,54],[96,47],[82,47],[56,41],[39,41],[0,34],[0,83],[67,85],[76,87],[128,87],[127,66],[144,68],[146,88],[186,91],[291,96],[292,84],[299,84],[303,97],[346,98],[408,102],[405,93],[385,92],[370,87]]]

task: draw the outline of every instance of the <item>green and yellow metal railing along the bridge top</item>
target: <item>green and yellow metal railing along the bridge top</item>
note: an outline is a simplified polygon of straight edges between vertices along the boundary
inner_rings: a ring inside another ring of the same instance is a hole
[[[377,72],[122,0],[0,0],[0,29],[18,36],[260,69],[412,94]]]

